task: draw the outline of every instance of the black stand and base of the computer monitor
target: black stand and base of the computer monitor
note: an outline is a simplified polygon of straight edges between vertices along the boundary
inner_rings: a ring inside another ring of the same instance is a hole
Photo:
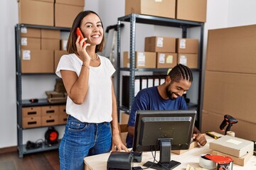
[[[151,169],[174,169],[176,166],[180,165],[181,162],[170,161],[171,160],[171,139],[159,139],[160,145],[160,159],[159,163],[146,162],[143,166],[150,167]]]

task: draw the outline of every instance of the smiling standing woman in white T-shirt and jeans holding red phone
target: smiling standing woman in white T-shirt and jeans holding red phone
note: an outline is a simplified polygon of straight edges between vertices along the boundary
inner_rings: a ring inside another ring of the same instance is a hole
[[[81,38],[76,34],[80,28]],[[68,93],[68,120],[60,142],[60,169],[83,169],[84,157],[124,150],[117,123],[117,102],[110,60],[97,54],[104,43],[102,21],[93,11],[82,11],[68,38],[69,55],[60,58],[56,74]],[[85,42],[85,45],[84,45]],[[111,124],[111,125],[110,125]]]

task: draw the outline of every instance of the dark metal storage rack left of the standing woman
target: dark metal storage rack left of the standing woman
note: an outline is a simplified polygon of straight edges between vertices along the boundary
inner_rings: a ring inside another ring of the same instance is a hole
[[[22,108],[23,107],[33,107],[33,106],[52,106],[52,105],[60,105],[65,103],[49,103],[46,98],[39,99],[37,103],[31,103],[28,100],[22,100],[22,88],[21,88],[21,79],[22,76],[31,76],[31,75],[46,75],[46,74],[54,74],[54,73],[43,73],[43,74],[23,74],[21,73],[21,28],[43,28],[43,29],[52,29],[52,30],[61,30],[61,31],[70,31],[70,28],[59,28],[53,26],[36,26],[29,24],[18,23],[15,26],[15,41],[16,41],[16,111],[17,111],[17,143],[18,143],[18,157],[23,158],[23,154],[29,154],[34,152],[42,152],[51,149],[58,149],[59,145],[52,145],[48,147],[46,145],[42,145],[42,147],[38,149],[26,149],[26,145],[23,145],[23,130],[25,130],[22,126]],[[41,126],[36,128],[43,128],[48,126]],[[29,128],[31,129],[31,128]],[[60,142],[60,141],[59,141]],[[58,142],[58,143],[59,143]]]

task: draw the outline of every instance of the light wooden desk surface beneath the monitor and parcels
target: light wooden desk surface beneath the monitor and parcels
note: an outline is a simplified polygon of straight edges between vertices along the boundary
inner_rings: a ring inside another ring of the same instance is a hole
[[[213,141],[214,139],[212,137],[206,136],[207,139],[207,144],[203,147],[196,147],[188,152],[185,152],[183,154],[174,154],[171,153],[171,160],[181,162],[180,165],[178,165],[174,170],[185,170],[187,164],[190,164],[191,166],[194,167],[200,167],[198,162],[199,158],[201,157],[202,154],[210,154],[212,152],[212,149],[209,149],[209,142]],[[110,153],[106,154],[98,154],[95,156],[91,157],[85,157],[84,162],[85,162],[85,170],[102,170],[102,169],[107,169],[107,159],[110,157]],[[156,160],[159,160],[159,152],[156,152]],[[142,166],[148,161],[153,161],[151,152],[143,152],[142,153],[142,162],[140,163],[134,163],[133,166]],[[145,168],[145,166],[142,166]],[[252,156],[250,160],[245,164],[245,166],[239,166],[234,164],[233,165],[233,170],[256,170],[256,157]]]

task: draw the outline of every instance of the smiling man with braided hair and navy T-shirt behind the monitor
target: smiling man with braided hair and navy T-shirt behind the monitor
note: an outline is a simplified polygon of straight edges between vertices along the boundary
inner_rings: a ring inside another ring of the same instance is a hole
[[[164,84],[139,91],[134,98],[128,121],[127,148],[132,147],[136,112],[138,110],[186,110],[183,94],[193,81],[191,70],[183,64],[177,64],[167,75]],[[195,127],[193,139],[200,145],[206,145],[206,137]]]

